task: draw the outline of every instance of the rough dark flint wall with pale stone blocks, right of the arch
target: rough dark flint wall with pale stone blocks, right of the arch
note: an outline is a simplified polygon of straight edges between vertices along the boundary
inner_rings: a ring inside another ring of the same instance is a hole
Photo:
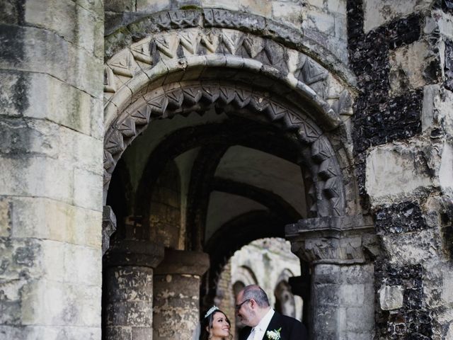
[[[352,131],[357,179],[382,244],[375,264],[379,339],[452,336],[445,290],[451,8],[451,1],[348,1],[350,62],[360,89]]]

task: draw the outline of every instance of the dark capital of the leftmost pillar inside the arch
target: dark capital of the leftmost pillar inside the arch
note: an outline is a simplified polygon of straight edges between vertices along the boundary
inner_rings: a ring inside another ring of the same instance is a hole
[[[156,268],[162,259],[164,259],[164,246],[142,239],[117,240],[104,256],[107,266]]]

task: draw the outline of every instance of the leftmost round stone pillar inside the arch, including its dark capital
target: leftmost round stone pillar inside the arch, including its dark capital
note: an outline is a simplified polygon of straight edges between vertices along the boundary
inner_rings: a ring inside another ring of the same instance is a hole
[[[121,240],[105,255],[105,339],[151,340],[153,336],[153,268],[164,246]]]

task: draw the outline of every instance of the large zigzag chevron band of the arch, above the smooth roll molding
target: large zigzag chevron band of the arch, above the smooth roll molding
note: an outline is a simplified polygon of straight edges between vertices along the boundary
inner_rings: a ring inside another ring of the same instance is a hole
[[[173,13],[173,16],[176,16]],[[188,26],[194,18],[177,18],[165,16],[161,23],[178,21],[178,25]],[[215,16],[215,13],[214,13]],[[105,70],[104,92],[106,101],[111,94],[127,83],[127,78],[134,77],[137,72],[154,67],[160,60],[180,59],[193,55],[234,55],[250,60],[257,60],[274,67],[283,76],[295,78],[297,81],[311,86],[324,100],[329,100],[331,108],[338,114],[348,113],[350,99],[345,98],[344,89],[330,86],[334,81],[326,69],[317,62],[297,50],[292,50],[273,40],[244,33],[231,28],[186,28],[156,33],[139,42],[134,42],[127,50],[122,50],[107,62]],[[123,78],[121,78],[123,77]],[[334,81],[335,82],[335,81]],[[326,89],[334,89],[328,94]],[[321,90],[320,90],[321,89]],[[342,94],[343,92],[343,94]],[[341,99],[340,99],[341,96]]]

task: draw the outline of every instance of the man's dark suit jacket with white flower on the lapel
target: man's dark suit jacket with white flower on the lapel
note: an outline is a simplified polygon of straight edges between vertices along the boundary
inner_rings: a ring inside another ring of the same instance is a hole
[[[280,331],[280,340],[309,339],[309,336],[306,333],[306,328],[301,322],[297,321],[297,319],[293,319],[292,317],[287,317],[285,315],[279,314],[278,312],[275,312],[272,319],[270,319],[266,333],[268,331],[279,329],[280,327],[282,327],[282,330]],[[251,330],[251,327],[243,327],[243,329],[241,329],[239,333],[239,340],[247,340],[247,337],[250,334]],[[264,334],[263,340],[268,340],[266,333]]]

